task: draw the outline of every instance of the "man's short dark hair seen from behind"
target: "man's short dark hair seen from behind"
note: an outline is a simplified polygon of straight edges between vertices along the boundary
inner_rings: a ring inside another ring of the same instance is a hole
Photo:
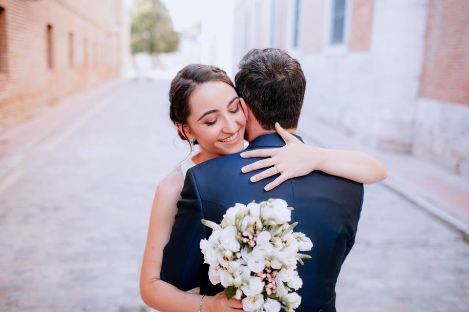
[[[252,49],[238,66],[236,92],[262,128],[296,128],[306,88],[298,60],[280,49]]]

